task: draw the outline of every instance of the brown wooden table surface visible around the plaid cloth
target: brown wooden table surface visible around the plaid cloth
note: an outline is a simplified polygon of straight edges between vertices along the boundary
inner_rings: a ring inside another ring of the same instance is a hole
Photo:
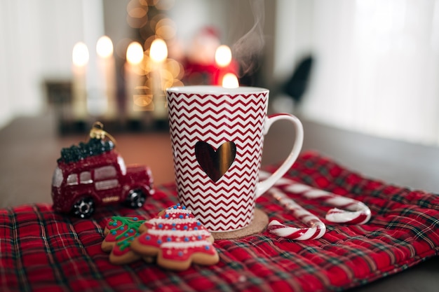
[[[364,176],[399,186],[439,193],[439,148],[381,139],[339,130],[309,120],[304,123],[304,150],[316,150]],[[55,119],[46,115],[19,118],[0,130],[0,207],[51,202],[50,181],[60,149],[87,139],[60,137]],[[126,163],[149,165],[156,184],[173,181],[168,132],[113,132]],[[266,135],[264,165],[283,160],[293,130],[279,122]],[[437,291],[439,258],[354,291]]]

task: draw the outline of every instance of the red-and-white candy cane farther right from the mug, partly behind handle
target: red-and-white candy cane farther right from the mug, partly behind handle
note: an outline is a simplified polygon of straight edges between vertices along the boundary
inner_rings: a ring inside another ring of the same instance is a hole
[[[262,176],[268,175],[268,173],[262,172]],[[327,221],[345,224],[364,224],[370,220],[370,209],[363,202],[335,195],[325,190],[312,188],[291,179],[282,178],[276,182],[276,186],[284,186],[284,189],[288,190],[288,192],[299,193],[309,199],[320,199],[335,207],[327,212],[325,217]]]

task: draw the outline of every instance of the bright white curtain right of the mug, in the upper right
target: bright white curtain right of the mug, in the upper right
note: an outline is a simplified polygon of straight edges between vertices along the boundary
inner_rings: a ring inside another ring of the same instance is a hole
[[[302,113],[439,145],[439,1],[313,1],[316,57]]]

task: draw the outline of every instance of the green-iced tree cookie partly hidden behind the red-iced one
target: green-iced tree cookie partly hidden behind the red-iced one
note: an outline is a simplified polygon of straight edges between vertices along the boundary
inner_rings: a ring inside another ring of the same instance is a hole
[[[110,262],[118,265],[131,263],[141,256],[130,248],[131,242],[140,232],[139,228],[144,223],[137,217],[113,216],[105,226],[104,241],[101,248],[103,251],[111,252]]]

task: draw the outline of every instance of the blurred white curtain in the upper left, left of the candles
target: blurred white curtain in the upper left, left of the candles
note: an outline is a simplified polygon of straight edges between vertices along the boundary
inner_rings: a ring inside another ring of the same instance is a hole
[[[102,0],[0,1],[0,127],[43,111],[43,81],[71,77],[72,48],[103,34],[100,14]]]

